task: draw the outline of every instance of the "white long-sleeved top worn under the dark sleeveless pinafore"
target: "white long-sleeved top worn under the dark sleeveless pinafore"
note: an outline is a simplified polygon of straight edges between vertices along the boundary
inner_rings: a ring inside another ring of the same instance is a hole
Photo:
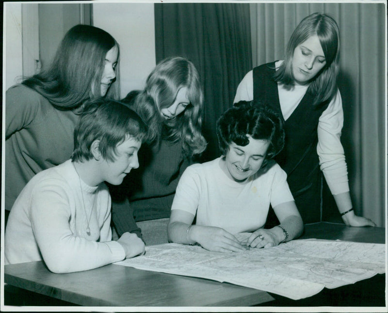
[[[282,61],[277,61],[278,67]],[[277,85],[279,102],[283,117],[287,120],[298,106],[308,86],[295,86],[287,90],[282,84]],[[253,71],[249,71],[240,82],[234,103],[241,100],[253,100]],[[320,167],[332,194],[349,192],[348,172],[344,150],[340,141],[343,126],[342,99],[339,93],[323,111],[318,122],[317,153]]]

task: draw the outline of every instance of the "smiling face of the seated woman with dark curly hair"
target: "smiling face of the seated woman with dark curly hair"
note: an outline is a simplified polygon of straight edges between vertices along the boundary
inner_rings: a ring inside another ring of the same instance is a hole
[[[226,175],[237,182],[256,174],[265,160],[270,145],[268,140],[246,136],[249,139],[248,145],[239,146],[232,142],[225,156]]]

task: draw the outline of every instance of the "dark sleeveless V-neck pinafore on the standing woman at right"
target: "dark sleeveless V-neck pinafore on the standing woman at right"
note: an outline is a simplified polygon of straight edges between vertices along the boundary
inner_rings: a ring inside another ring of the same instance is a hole
[[[275,62],[253,69],[253,97],[257,105],[267,105],[283,119],[277,83],[273,80]],[[284,121],[284,149],[275,161],[287,173],[287,181],[303,222],[321,221],[322,172],[317,154],[318,120],[329,101],[312,105],[314,95],[306,92],[301,102]],[[277,224],[273,210],[268,216],[266,227]]]

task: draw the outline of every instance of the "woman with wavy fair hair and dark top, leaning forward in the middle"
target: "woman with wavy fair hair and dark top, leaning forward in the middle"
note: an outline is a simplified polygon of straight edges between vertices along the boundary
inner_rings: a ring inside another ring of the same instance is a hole
[[[111,188],[118,235],[134,227],[140,236],[133,221],[168,218],[180,175],[206,148],[198,72],[185,58],[167,58],[148,76],[144,90],[129,93],[123,101],[154,133],[153,144],[141,151],[140,169],[119,189]]]

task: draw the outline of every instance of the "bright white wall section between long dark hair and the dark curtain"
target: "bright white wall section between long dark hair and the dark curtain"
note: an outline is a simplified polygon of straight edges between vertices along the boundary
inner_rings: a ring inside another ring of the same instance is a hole
[[[121,96],[142,89],[155,67],[153,3],[93,3],[93,25],[120,45]]]

